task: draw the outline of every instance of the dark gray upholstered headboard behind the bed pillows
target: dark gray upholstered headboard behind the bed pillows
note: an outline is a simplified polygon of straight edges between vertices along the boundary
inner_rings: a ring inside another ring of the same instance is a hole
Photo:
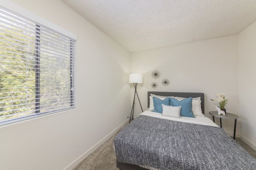
[[[174,97],[201,97],[201,109],[204,113],[204,94],[203,93],[187,93],[187,92],[165,92],[165,91],[148,91],[148,108],[149,108],[149,96],[154,94],[157,96],[174,96]]]

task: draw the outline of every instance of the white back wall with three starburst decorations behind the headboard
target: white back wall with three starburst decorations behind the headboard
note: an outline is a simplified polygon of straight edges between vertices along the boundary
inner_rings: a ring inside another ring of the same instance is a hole
[[[217,93],[225,93],[229,98],[228,112],[239,114],[237,62],[237,35],[234,35],[132,53],[131,72],[143,74],[138,94],[144,109],[147,108],[147,91],[202,92],[205,95],[205,113],[212,119],[209,111],[216,109],[210,99]],[[159,79],[151,77],[154,69],[161,72]],[[161,85],[164,78],[170,80],[169,86]],[[156,89],[151,88],[154,81],[158,83]],[[134,88],[131,94],[133,99]],[[141,112],[138,101],[135,108],[137,116]],[[217,118],[215,121],[219,125]],[[233,133],[233,121],[223,120],[222,125],[225,131]]]

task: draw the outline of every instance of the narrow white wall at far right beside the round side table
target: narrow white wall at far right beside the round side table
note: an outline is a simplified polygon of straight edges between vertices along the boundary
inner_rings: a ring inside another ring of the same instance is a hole
[[[241,135],[256,149],[256,22],[238,36]]]

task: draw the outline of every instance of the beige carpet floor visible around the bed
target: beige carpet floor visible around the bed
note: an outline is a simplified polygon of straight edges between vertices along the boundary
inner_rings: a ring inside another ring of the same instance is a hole
[[[113,150],[113,139],[116,134],[81,161],[73,170],[118,170],[116,168],[116,156]],[[236,141],[256,158],[256,151],[252,147],[240,138],[236,138]]]

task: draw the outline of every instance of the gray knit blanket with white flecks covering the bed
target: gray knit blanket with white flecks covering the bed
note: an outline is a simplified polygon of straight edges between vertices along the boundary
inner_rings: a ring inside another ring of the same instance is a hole
[[[256,170],[220,127],[138,116],[114,139],[116,159],[160,170]]]

